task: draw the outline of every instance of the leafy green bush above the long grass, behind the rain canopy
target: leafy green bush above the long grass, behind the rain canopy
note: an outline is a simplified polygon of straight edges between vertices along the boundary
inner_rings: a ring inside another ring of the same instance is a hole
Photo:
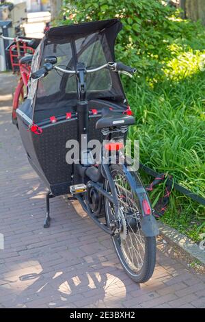
[[[64,24],[120,18],[124,27],[118,36],[116,55],[125,64],[132,63],[146,77],[163,75],[163,65],[173,56],[169,45],[180,37],[186,40],[186,46],[195,31],[195,24],[181,23],[179,12],[160,0],[65,2],[64,16],[68,19],[62,21]]]

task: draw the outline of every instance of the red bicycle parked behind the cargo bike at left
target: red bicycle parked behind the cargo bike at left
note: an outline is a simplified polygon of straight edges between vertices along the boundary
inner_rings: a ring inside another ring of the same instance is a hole
[[[12,103],[12,123],[18,127],[16,109],[27,97],[27,84],[31,73],[31,61],[40,39],[11,38],[2,35],[1,38],[4,40],[13,40],[7,50],[10,53],[12,71],[20,74]]]

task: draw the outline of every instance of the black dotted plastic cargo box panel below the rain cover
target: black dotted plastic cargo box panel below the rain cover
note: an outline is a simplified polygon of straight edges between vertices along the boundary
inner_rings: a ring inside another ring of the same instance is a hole
[[[103,107],[120,108],[116,104],[103,101],[90,101],[91,108],[98,110],[97,115],[89,117],[88,140],[102,140],[105,136],[101,130],[95,128],[96,121],[100,118],[100,109]],[[122,108],[123,110],[123,108]],[[67,164],[66,142],[71,139],[78,140],[78,122],[75,117],[72,119],[47,123],[42,127],[42,134],[36,135],[27,131],[28,126],[23,122],[23,117],[18,116],[18,125],[23,145],[27,151],[29,162],[38,173],[43,182],[53,195],[64,195],[69,193],[69,186],[72,184],[73,165]],[[115,134],[114,136],[118,136]],[[122,136],[122,134],[120,134]],[[77,177],[74,174],[74,177]],[[81,180],[78,178],[77,181]]]

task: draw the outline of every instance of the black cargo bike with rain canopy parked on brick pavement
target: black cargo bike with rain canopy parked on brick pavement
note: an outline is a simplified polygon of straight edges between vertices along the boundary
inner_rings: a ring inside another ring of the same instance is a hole
[[[121,28],[120,20],[111,19],[46,32],[33,55],[27,99],[16,114],[29,162],[49,189],[44,227],[51,221],[50,198],[71,194],[111,236],[129,277],[146,282],[154,271],[159,231],[139,174],[122,153],[135,117],[119,73],[136,70],[115,62]],[[84,139],[100,142],[97,163]],[[80,152],[72,163],[70,142],[79,143]]]

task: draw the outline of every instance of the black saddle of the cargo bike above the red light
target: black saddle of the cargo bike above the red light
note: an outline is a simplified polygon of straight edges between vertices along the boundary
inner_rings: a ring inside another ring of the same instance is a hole
[[[135,124],[135,117],[132,115],[122,114],[122,112],[109,110],[109,108],[102,108],[101,113],[102,117],[96,122],[96,129]]]

